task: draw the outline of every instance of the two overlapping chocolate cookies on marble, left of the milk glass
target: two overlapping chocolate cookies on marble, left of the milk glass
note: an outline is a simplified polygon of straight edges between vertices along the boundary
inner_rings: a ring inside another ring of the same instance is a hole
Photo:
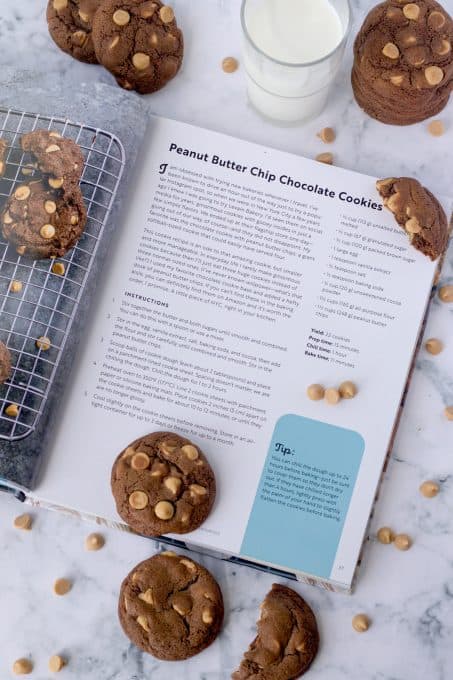
[[[47,22],[60,49],[102,64],[126,90],[160,90],[182,63],[182,33],[160,0],[49,0]]]

